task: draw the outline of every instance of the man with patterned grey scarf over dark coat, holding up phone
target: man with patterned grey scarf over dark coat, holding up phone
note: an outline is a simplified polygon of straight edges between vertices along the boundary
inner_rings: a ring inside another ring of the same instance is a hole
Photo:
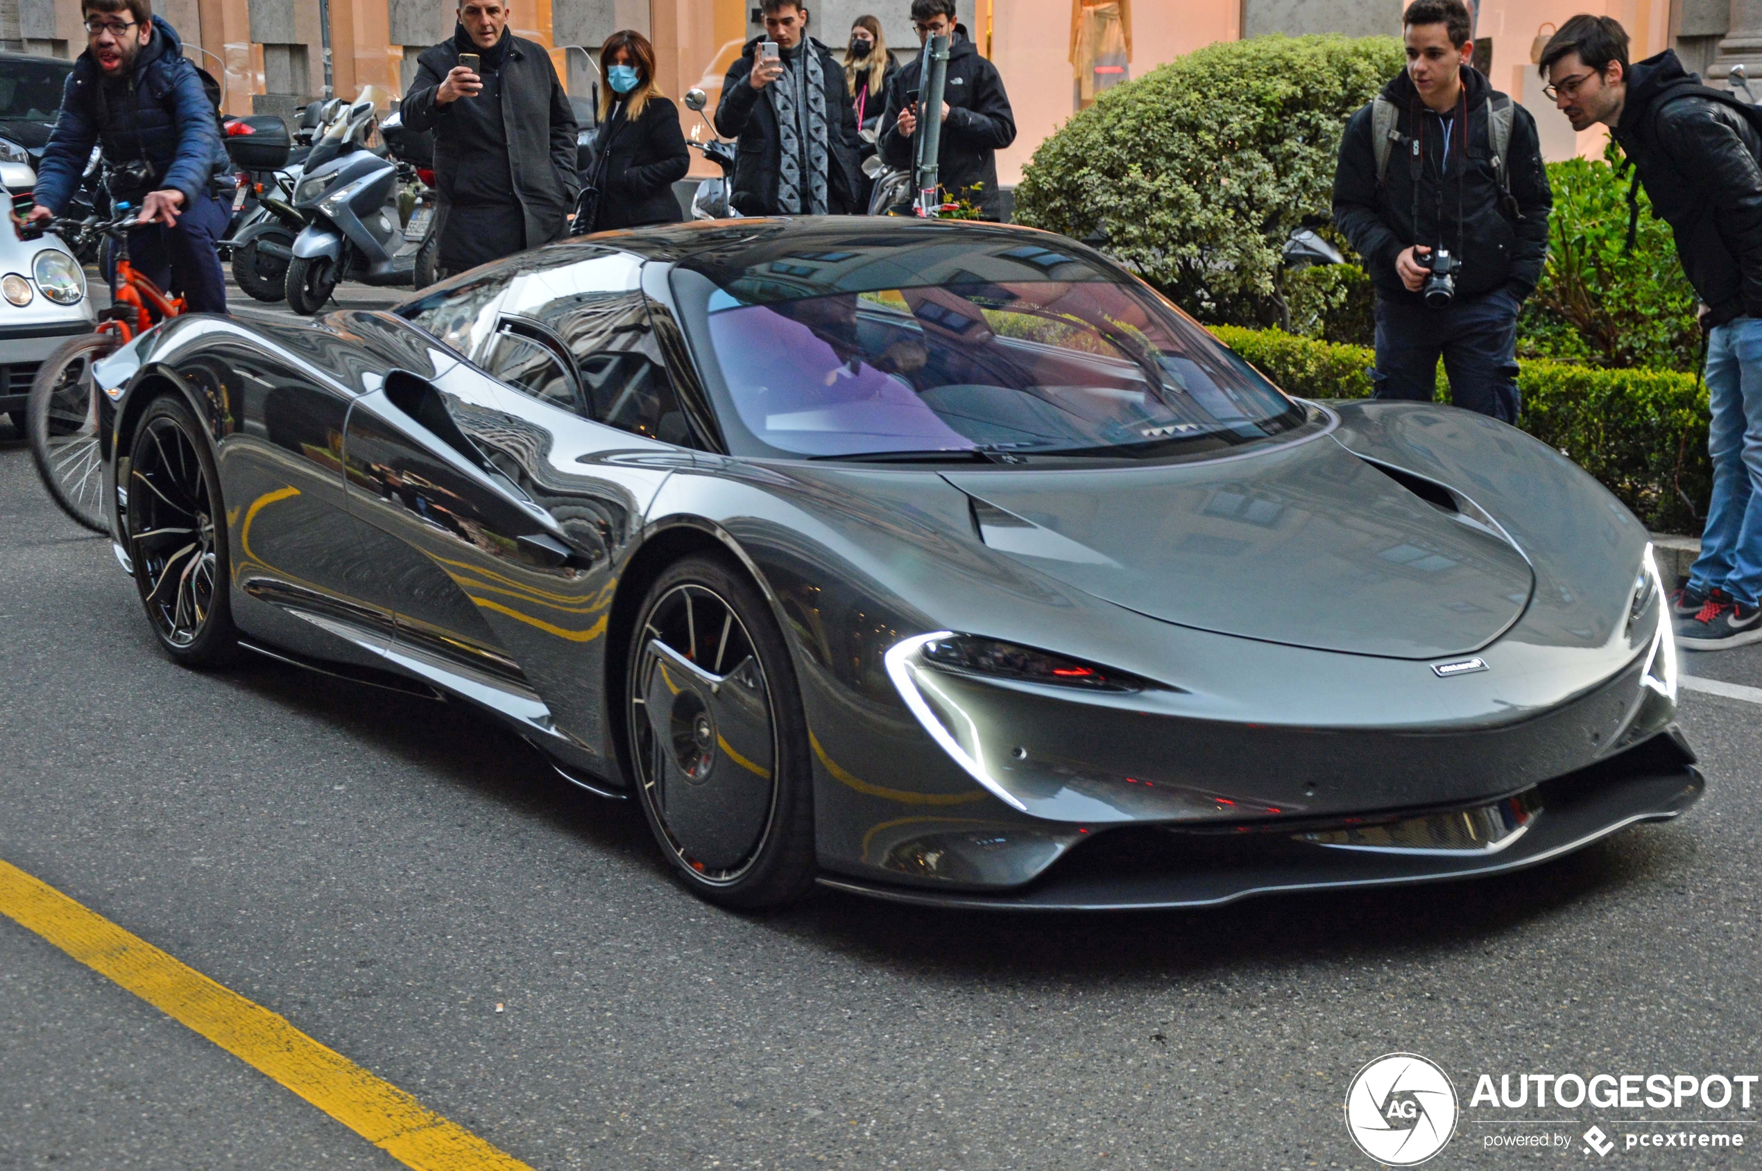
[[[777,58],[747,42],[722,81],[715,129],[738,137],[733,204],[742,215],[848,215],[856,206],[856,111],[844,65],[807,35],[796,0],[763,0]]]

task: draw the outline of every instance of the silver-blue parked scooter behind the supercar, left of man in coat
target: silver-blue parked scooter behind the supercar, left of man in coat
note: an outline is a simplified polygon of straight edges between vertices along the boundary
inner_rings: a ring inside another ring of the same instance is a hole
[[[409,285],[414,250],[403,252],[403,225],[389,206],[398,164],[368,146],[377,127],[372,97],[363,95],[312,144],[294,187],[294,210],[310,222],[287,262],[287,306],[317,313],[342,280]]]

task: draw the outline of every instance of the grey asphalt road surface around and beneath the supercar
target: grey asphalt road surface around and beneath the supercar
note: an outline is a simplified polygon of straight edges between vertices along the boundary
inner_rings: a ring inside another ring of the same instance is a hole
[[[1489,1152],[1485,1120],[1709,1115],[1496,1115],[1475,1076],[1762,1072],[1753,703],[1684,692],[1688,815],[1514,877],[735,916],[670,880],[638,810],[456,704],[169,664],[4,423],[0,630],[0,859],[532,1167],[1371,1167],[1341,1102],[1394,1049],[1462,1095],[1429,1167],[1582,1164]],[[1762,687],[1762,648],[1688,659]],[[1716,1113],[1751,1146],[1610,1162],[1755,1166],[1762,1101]],[[48,1166],[396,1164],[0,917],[0,1167]]]

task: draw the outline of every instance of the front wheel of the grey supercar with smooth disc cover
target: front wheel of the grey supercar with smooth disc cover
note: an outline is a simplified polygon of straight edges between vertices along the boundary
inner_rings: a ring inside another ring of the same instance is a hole
[[[816,872],[807,720],[765,599],[733,565],[689,556],[648,588],[636,632],[624,711],[661,852],[724,907],[800,898]]]

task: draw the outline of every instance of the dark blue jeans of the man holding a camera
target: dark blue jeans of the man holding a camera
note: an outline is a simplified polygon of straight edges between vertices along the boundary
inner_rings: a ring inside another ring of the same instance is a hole
[[[1436,394],[1438,359],[1450,375],[1450,401],[1505,423],[1517,423],[1515,292],[1494,289],[1448,308],[1427,308],[1376,298],[1378,398],[1429,403]]]

